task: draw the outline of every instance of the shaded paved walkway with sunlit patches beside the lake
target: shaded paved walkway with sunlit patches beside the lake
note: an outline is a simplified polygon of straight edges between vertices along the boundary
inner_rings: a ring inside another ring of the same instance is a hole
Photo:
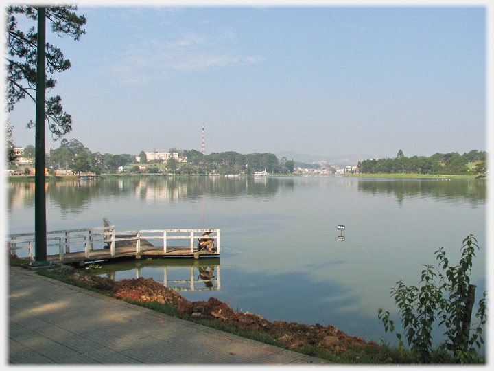
[[[10,364],[329,363],[9,269]]]

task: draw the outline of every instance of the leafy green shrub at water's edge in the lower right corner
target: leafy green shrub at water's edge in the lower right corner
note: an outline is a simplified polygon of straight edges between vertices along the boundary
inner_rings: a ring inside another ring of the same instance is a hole
[[[436,251],[436,260],[439,260],[437,271],[431,265],[424,265],[419,287],[406,286],[397,282],[391,295],[399,308],[401,323],[410,351],[423,363],[431,360],[432,326],[439,320],[438,326],[444,325],[446,340],[440,349],[451,352],[460,363],[472,363],[478,359],[478,350],[484,343],[482,326],[486,324],[486,293],[479,301],[479,309],[475,317],[478,324],[470,336],[469,304],[469,274],[473,265],[477,240],[473,235],[463,240],[462,256],[457,266],[449,265],[445,251],[440,248]],[[473,289],[475,286],[473,286]],[[384,324],[386,332],[394,332],[399,339],[399,348],[403,348],[402,335],[395,330],[390,313],[379,308],[378,318]]]

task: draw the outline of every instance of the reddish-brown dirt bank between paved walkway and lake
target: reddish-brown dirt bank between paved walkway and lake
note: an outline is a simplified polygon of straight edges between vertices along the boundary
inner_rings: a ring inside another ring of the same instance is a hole
[[[325,327],[320,324],[307,326],[296,322],[269,322],[260,315],[235,312],[215,297],[210,297],[207,302],[190,302],[173,289],[168,289],[152,278],[133,278],[115,282],[110,278],[80,276],[78,273],[74,273],[71,278],[88,282],[97,289],[113,293],[113,296],[120,300],[173,304],[177,307],[178,313],[191,318],[236,324],[242,329],[279,336],[278,341],[290,350],[311,345],[316,345],[329,352],[346,352],[348,348],[354,347],[378,348],[374,341],[366,342],[361,337],[347,335],[331,325]]]

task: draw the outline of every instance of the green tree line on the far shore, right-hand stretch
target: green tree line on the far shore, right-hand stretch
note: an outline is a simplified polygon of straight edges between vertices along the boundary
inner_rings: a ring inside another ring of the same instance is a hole
[[[435,153],[430,157],[405,157],[399,150],[397,157],[360,161],[358,168],[364,174],[484,174],[487,169],[485,151],[471,150],[460,155],[458,152]],[[469,167],[469,163],[471,166]]]

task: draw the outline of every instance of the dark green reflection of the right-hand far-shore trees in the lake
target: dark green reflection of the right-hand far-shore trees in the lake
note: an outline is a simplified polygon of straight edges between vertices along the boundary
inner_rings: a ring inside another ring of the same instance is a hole
[[[472,204],[486,202],[487,186],[482,179],[359,179],[358,190],[368,194],[394,195],[401,205],[407,197],[432,197],[441,201],[466,200]]]

